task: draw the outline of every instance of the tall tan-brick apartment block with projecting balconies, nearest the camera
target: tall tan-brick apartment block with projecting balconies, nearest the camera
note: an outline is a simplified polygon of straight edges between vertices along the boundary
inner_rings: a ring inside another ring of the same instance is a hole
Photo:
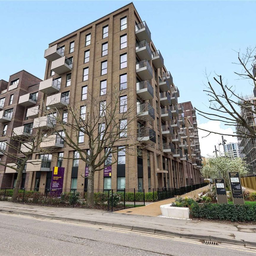
[[[134,115],[139,115],[132,125],[139,131],[138,140],[147,147],[138,155],[116,156],[111,177],[104,177],[103,171],[96,172],[96,189],[150,191],[201,182],[200,173],[194,171],[194,162],[184,157],[181,145],[180,127],[185,120],[181,116],[183,108],[178,105],[179,90],[164,66],[164,57],[151,40],[147,23],[132,3],[50,43],[44,57],[45,76],[38,87],[43,95],[40,110],[44,106],[59,108],[64,121],[67,104],[91,108],[87,92],[91,92],[90,97],[111,101],[109,92],[118,85],[121,97],[129,96],[127,108],[135,106]],[[40,127],[47,131],[49,125],[54,125],[54,116],[42,113],[35,116],[33,129]],[[84,138],[79,145],[88,148]],[[27,187],[49,188],[52,169],[58,166],[65,168],[63,188],[87,189],[87,178],[83,177],[86,167],[76,151],[66,143],[57,143],[56,137],[50,145],[48,141],[41,147],[54,150],[49,154],[34,154],[29,160]],[[41,163],[36,165],[38,159]],[[190,174],[186,172],[188,169]]]

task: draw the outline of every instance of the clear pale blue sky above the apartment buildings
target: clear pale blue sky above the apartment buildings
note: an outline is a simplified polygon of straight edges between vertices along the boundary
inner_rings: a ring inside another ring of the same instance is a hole
[[[130,1],[0,1],[0,79],[27,70],[44,78],[48,44]],[[152,41],[180,90],[207,110],[204,71],[216,72],[238,92],[252,94],[247,81],[236,80],[240,68],[234,50],[255,45],[255,1],[134,1]],[[207,120],[199,118],[201,123]],[[221,125],[223,128],[223,126]]]

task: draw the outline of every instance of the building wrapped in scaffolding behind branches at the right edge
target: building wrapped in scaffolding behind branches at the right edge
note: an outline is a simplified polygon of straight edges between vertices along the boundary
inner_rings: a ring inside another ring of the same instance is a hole
[[[255,91],[256,94],[256,91]],[[251,126],[256,131],[256,123],[255,123],[255,114],[252,113],[254,111],[254,106],[251,104],[256,104],[256,95],[249,95],[242,97],[243,100],[240,100],[239,103],[243,104],[244,107],[240,108],[240,114],[244,120],[246,120],[247,124]],[[248,133],[248,129],[237,125],[236,132],[243,132],[243,134]],[[254,138],[241,138],[237,137],[238,145],[241,150],[241,153],[245,157],[247,164],[249,165],[249,174],[256,174],[256,140]]]

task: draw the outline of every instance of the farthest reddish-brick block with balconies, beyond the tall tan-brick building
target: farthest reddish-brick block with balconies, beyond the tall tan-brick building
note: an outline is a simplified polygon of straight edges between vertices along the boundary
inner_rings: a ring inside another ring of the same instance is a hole
[[[183,143],[181,144],[183,154],[187,159],[185,162],[185,179],[186,185],[191,185],[202,179],[200,173],[200,169],[202,168],[202,159],[196,111],[193,108],[191,101],[180,103],[179,107],[183,109],[181,117],[184,119],[184,123],[180,129],[180,134],[183,140]]]

